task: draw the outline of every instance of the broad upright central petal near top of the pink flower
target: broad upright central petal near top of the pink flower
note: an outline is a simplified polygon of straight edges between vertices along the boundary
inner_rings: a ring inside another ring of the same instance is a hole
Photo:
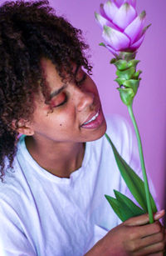
[[[137,13],[135,9],[131,5],[129,5],[129,3],[124,3],[115,14],[113,23],[115,23],[115,25],[117,25],[118,27],[125,29],[136,16]]]

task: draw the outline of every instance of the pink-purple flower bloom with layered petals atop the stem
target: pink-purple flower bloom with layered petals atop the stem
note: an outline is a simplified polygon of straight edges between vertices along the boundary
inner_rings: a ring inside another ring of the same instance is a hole
[[[149,26],[144,28],[145,11],[137,14],[136,0],[110,0],[100,4],[95,19],[103,28],[106,48],[115,56],[120,52],[134,53],[144,41]]]

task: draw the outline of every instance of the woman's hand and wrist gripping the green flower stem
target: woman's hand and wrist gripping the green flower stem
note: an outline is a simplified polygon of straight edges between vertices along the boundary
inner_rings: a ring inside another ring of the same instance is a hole
[[[165,231],[159,218],[164,210],[154,214],[154,223],[149,224],[148,214],[129,218],[110,230],[85,256],[163,255]]]

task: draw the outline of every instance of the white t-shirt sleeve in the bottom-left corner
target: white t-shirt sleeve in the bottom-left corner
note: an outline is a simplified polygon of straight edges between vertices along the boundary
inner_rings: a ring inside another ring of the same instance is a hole
[[[4,200],[0,200],[0,255],[36,256],[32,243],[22,232],[18,214]]]

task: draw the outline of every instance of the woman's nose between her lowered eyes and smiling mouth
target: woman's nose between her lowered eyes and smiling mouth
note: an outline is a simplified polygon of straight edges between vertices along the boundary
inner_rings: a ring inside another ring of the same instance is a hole
[[[90,108],[95,99],[95,94],[90,91],[83,91],[81,89],[77,89],[76,97],[76,109],[81,112],[85,110],[85,108]]]

